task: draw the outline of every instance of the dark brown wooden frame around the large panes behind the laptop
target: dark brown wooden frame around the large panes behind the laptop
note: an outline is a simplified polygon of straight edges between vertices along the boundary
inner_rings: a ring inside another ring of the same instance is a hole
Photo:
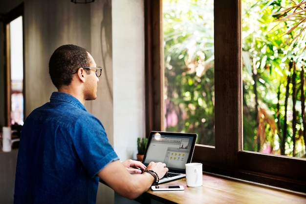
[[[214,0],[214,5],[216,143],[197,144],[193,162],[203,163],[206,172],[306,192],[305,159],[243,150],[241,0]],[[164,123],[162,0],[145,0],[144,6],[149,135],[151,130],[163,130]]]

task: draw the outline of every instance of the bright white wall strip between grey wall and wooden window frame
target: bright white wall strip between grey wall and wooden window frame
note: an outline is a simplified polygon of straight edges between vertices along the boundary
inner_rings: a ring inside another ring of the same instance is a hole
[[[114,148],[135,159],[145,135],[144,2],[112,1]]]

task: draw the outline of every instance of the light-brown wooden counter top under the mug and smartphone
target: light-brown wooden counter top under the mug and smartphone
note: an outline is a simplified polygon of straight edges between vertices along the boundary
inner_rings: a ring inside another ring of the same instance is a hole
[[[167,204],[306,204],[306,194],[262,184],[203,173],[203,185],[188,187],[186,178],[160,185],[183,185],[183,191],[152,191],[144,193],[140,203],[150,199]]]

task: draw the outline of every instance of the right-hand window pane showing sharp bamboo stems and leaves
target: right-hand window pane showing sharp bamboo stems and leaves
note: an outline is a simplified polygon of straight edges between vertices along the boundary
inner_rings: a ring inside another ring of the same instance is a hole
[[[305,6],[242,0],[244,150],[306,157]]]

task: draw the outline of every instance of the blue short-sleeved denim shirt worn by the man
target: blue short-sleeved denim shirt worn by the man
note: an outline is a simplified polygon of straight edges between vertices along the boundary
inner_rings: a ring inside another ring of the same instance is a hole
[[[14,203],[95,204],[97,173],[116,160],[103,124],[73,96],[54,92],[22,127]]]

